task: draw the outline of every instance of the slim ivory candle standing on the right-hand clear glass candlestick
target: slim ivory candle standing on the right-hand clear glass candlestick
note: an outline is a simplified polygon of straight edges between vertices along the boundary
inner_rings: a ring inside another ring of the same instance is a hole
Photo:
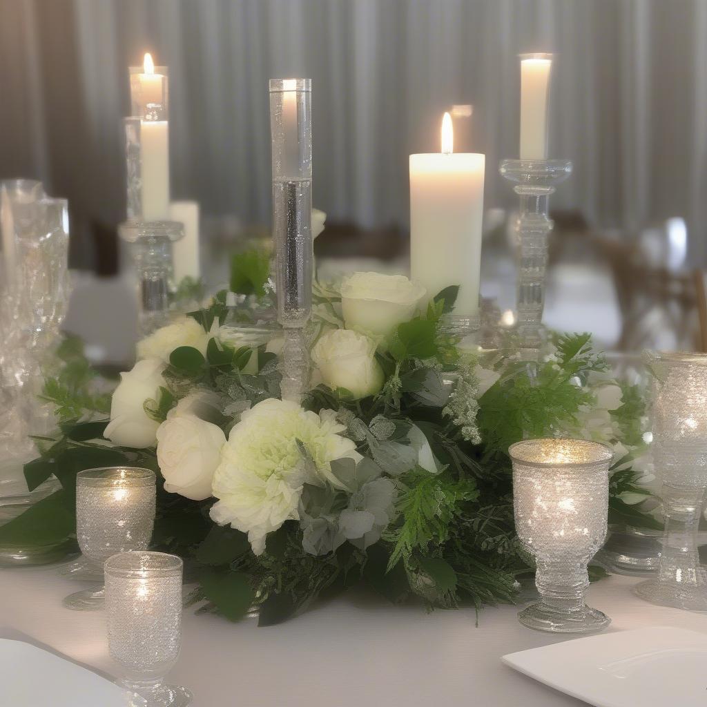
[[[547,160],[547,105],[551,54],[520,59],[520,159]]]

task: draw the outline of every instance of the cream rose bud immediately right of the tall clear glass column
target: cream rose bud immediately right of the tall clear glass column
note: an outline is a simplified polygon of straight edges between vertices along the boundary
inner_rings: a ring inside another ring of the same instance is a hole
[[[349,329],[324,334],[312,349],[312,361],[330,388],[346,388],[356,398],[379,392],[383,371],[375,360],[375,341]]]

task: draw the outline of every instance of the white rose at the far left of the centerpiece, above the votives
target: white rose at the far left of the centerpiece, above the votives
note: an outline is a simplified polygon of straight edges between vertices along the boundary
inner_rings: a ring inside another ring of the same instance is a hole
[[[144,449],[156,442],[160,423],[148,417],[144,402],[157,399],[165,385],[165,364],[159,358],[138,361],[128,373],[120,374],[120,383],[110,403],[110,423],[104,436],[121,447]]]

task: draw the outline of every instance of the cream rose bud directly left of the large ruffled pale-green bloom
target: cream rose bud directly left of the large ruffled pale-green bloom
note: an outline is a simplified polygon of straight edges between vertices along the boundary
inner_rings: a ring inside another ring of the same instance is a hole
[[[192,414],[170,414],[157,431],[157,462],[165,491],[192,501],[211,496],[211,479],[221,461],[226,435]]]

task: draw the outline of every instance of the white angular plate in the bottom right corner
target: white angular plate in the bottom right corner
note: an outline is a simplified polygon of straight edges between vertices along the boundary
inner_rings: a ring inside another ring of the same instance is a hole
[[[596,707],[706,707],[707,635],[653,626],[509,653],[506,665]]]

